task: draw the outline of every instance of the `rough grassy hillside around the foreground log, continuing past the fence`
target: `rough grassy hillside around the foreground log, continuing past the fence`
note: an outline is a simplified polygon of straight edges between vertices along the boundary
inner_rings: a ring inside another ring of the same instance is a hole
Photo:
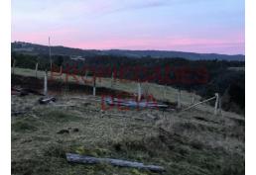
[[[33,70],[16,69],[15,73],[32,76]],[[97,85],[111,87],[106,78]],[[168,87],[163,97],[163,86],[147,86],[156,98],[176,101],[176,89]],[[121,82],[113,86],[127,92],[136,92],[136,87]],[[192,94],[182,94],[183,105],[190,104]],[[12,96],[12,111],[24,112],[12,116],[12,174],[156,174],[108,164],[70,164],[65,152],[161,165],[167,175],[244,174],[241,116],[226,112],[214,116],[209,106],[180,113],[102,111],[98,97],[82,93],[56,97],[56,103],[40,105],[39,96]]]

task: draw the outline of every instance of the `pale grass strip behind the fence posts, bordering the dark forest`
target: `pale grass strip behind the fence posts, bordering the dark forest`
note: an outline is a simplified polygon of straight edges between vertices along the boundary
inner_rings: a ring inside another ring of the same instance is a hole
[[[26,68],[15,68],[15,74],[22,75],[22,76],[32,76],[35,77],[35,70],[32,69],[26,69]],[[44,71],[38,71],[38,78],[44,78],[45,72]],[[51,73],[48,73],[49,78],[53,77],[54,80],[61,81],[61,82],[77,82],[72,76],[67,76],[63,73],[62,76],[52,76]],[[82,81],[82,78],[80,76],[75,76],[78,80],[77,83],[84,84]],[[91,77],[87,77],[88,80],[91,79]],[[137,87],[138,84],[136,82],[131,82],[127,80],[116,80],[114,83],[111,83],[110,78],[98,78],[96,79],[96,86],[97,87],[106,87],[111,88],[114,90],[120,90],[124,92],[129,93],[137,93]],[[86,85],[92,85],[92,84],[86,84]],[[153,97],[157,100],[165,100],[169,102],[176,103],[178,99],[178,90],[171,87],[171,86],[163,86],[158,85],[154,83],[142,83],[142,92],[147,91],[148,94],[153,95]],[[43,88],[43,87],[42,87]],[[212,94],[214,96],[214,94]],[[193,94],[192,92],[188,92],[185,90],[181,91],[181,103],[184,107],[188,107],[192,105],[192,97],[194,98],[194,103],[199,102],[202,98],[198,95]],[[201,104],[195,107],[196,109],[208,113],[213,113],[214,108],[209,106],[208,104]],[[229,113],[223,111],[222,114],[229,118],[236,118],[236,119],[244,119],[244,116],[237,115],[235,113]]]

